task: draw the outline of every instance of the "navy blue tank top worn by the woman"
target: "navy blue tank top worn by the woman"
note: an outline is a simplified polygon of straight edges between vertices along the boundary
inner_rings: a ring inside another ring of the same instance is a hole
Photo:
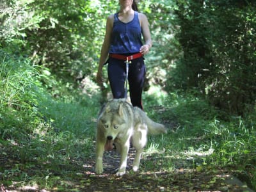
[[[134,18],[127,23],[119,20],[118,13],[115,13],[109,53],[127,54],[140,52],[142,45],[138,12],[134,12]]]

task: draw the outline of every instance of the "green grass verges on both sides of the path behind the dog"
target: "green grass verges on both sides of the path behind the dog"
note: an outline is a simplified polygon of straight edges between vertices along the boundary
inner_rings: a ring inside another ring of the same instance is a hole
[[[0,182],[16,189],[73,188],[83,178],[81,167],[93,167],[99,96],[67,90],[42,75],[47,68],[31,67],[24,58],[2,58]],[[142,173],[221,169],[246,176],[256,189],[255,114],[227,120],[204,99],[157,87],[143,100],[148,116],[169,132],[148,138]]]

